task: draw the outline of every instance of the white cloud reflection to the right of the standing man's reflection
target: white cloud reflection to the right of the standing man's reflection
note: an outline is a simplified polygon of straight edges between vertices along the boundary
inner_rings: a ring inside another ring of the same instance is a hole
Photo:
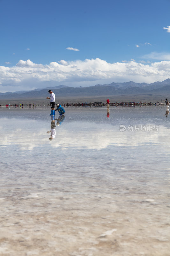
[[[84,124],[83,124],[84,123]],[[87,149],[103,149],[107,148],[110,145],[115,146],[129,146],[129,147],[136,147],[140,145],[145,145],[147,143],[150,144],[160,144],[162,143],[162,139],[166,140],[167,138],[167,128],[164,126],[159,126],[159,129],[162,131],[162,136],[160,138],[159,132],[120,132],[119,126],[112,126],[110,125],[100,127],[99,130],[96,131],[96,124],[90,123],[89,124],[91,129],[94,128],[92,131],[83,131],[82,133],[75,132],[74,129],[81,130],[82,127],[87,126],[87,122],[75,122],[69,125],[69,129],[64,132],[63,140],[61,141],[63,148],[70,148],[76,145],[77,148],[87,148]],[[164,135],[165,134],[165,135]],[[58,147],[58,145],[53,144],[53,147]]]

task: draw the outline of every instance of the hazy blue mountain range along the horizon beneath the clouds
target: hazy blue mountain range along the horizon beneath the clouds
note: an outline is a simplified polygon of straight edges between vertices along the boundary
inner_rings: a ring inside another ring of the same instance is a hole
[[[71,87],[59,85],[34,89],[32,91],[0,92],[0,99],[31,99],[44,98],[48,96],[48,90],[52,90],[58,97],[64,96],[101,96],[101,95],[127,95],[127,94],[170,94],[170,78],[162,82],[135,83],[133,81],[124,83],[96,84],[89,87]]]

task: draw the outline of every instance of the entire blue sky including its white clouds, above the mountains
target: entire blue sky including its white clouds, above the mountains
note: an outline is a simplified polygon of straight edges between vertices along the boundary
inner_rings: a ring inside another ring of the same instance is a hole
[[[0,0],[0,92],[170,78],[170,0]]]

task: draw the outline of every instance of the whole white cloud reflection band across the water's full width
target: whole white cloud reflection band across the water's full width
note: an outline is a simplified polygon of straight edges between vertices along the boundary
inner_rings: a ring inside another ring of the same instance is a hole
[[[3,121],[1,122],[1,124],[3,123],[3,127],[8,127],[9,119],[4,118],[1,120]],[[12,130],[10,126],[9,131],[3,130],[3,127],[0,127],[2,131],[1,146],[17,145],[20,150],[25,151],[32,150],[41,145],[46,145],[48,134],[44,131],[44,128],[42,128],[44,127],[43,121],[31,120],[30,122],[30,120],[27,119],[19,120],[14,118],[10,119],[10,122],[11,121]],[[64,150],[70,150],[70,148],[101,150],[110,145],[118,147],[136,147],[147,144],[162,145],[166,142],[167,136],[169,135],[169,129],[164,126],[159,126],[158,132],[130,132],[127,129],[124,132],[120,132],[120,126],[107,124],[106,129],[105,124],[98,124],[97,128],[96,125],[97,124],[94,122],[86,121],[69,122],[69,127],[62,126],[59,139],[54,140],[51,146],[55,148],[61,147]],[[87,128],[82,130],[82,127]],[[163,150],[163,148],[161,148],[161,150]]]

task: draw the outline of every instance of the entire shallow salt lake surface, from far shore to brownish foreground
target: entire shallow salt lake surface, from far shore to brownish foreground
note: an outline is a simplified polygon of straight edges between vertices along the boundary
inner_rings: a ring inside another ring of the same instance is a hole
[[[65,110],[0,108],[0,254],[169,255],[165,106]]]

